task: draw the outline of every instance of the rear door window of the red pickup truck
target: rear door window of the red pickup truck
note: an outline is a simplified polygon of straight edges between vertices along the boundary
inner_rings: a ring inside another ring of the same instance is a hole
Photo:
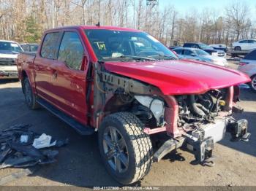
[[[60,33],[46,34],[42,42],[42,58],[56,59],[56,49],[59,42]]]

